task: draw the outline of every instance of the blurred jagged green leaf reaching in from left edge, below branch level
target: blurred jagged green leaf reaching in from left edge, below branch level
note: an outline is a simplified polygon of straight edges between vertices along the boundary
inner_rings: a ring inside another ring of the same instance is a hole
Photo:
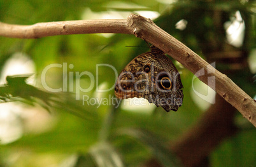
[[[7,76],[8,83],[0,87],[0,100],[6,101],[9,98],[29,105],[38,103],[48,111],[50,109],[64,110],[84,119],[96,119],[97,113],[94,112],[93,107],[82,105],[81,100],[75,100],[75,97],[70,98],[71,94],[69,93],[51,93],[39,90],[25,82],[28,77],[27,75]]]

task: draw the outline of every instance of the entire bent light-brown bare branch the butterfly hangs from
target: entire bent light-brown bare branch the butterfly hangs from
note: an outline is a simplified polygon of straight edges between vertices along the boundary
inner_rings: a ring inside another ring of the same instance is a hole
[[[0,36],[38,38],[46,36],[92,33],[134,34],[178,60],[203,83],[208,84],[227,102],[241,112],[256,127],[256,102],[241,90],[229,77],[222,74],[194,51],[160,29],[152,20],[131,14],[127,20],[80,20],[10,25],[0,22]],[[203,69],[203,70],[202,70]],[[208,75],[215,77],[208,77]]]

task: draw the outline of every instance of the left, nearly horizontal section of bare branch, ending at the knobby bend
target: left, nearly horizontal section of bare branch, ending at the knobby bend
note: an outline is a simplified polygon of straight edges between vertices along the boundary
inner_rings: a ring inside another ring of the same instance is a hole
[[[131,34],[125,19],[76,20],[65,22],[11,25],[0,22],[0,36],[15,38],[39,38],[69,34],[116,33]]]

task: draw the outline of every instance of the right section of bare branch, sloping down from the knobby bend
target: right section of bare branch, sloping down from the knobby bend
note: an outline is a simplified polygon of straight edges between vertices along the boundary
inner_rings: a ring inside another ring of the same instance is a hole
[[[208,84],[229,104],[236,107],[243,114],[243,117],[246,117],[256,127],[256,102],[229,77],[216,70],[185,44],[160,29],[150,19],[138,15],[130,15],[128,22],[134,28],[135,36],[149,41],[175,60],[178,60],[203,83]],[[201,73],[207,72],[211,76],[215,76],[215,78],[208,78],[208,74],[201,74],[199,71],[202,71]]]

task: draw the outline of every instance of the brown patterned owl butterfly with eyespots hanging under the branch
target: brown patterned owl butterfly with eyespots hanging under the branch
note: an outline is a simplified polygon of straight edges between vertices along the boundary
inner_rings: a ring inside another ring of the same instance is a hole
[[[183,93],[180,74],[162,50],[151,51],[134,58],[118,76],[115,84],[117,98],[145,98],[167,112],[178,110]]]

